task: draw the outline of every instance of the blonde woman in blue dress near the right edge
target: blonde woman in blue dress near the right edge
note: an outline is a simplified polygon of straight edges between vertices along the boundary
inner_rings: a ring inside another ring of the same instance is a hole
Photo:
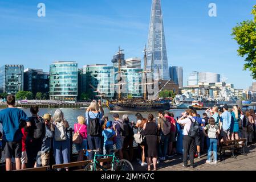
[[[238,140],[239,139],[239,135],[238,135],[238,132],[239,132],[239,114],[238,114],[238,109],[237,109],[237,106],[233,106],[233,109],[232,109],[232,113],[231,113],[231,140]]]

